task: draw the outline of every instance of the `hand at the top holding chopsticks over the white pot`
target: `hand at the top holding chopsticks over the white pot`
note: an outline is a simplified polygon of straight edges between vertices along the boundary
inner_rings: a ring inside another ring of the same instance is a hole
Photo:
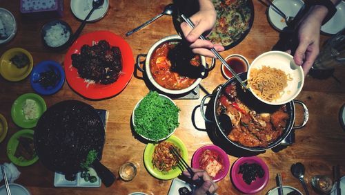
[[[217,14],[212,2],[208,0],[199,0],[199,3],[199,12],[190,17],[190,20],[195,24],[193,30],[188,26],[188,24],[186,24],[186,22],[181,23],[181,30],[184,33],[186,40],[190,43],[190,48],[192,48],[193,53],[207,57],[215,57],[215,55],[210,51],[210,48],[215,48],[217,51],[223,51],[224,47],[219,44],[213,44],[208,40],[201,40],[199,37],[204,33],[208,34],[208,32],[213,29],[217,19]]]

